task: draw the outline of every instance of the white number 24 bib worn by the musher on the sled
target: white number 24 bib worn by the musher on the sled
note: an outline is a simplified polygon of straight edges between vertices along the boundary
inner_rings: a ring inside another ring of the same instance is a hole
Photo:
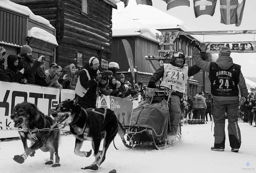
[[[185,85],[188,77],[188,66],[176,67],[171,64],[164,64],[164,76],[160,86],[168,87],[178,91],[185,92]]]

